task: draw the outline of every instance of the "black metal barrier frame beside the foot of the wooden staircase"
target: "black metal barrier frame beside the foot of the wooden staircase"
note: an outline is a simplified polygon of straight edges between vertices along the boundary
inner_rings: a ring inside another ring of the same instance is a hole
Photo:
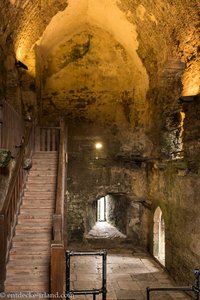
[[[102,256],[102,288],[93,290],[70,290],[70,257],[71,256]],[[93,295],[93,300],[96,300],[96,295],[102,294],[102,300],[106,300],[106,258],[105,250],[93,252],[66,252],[66,299],[70,299],[72,295]]]

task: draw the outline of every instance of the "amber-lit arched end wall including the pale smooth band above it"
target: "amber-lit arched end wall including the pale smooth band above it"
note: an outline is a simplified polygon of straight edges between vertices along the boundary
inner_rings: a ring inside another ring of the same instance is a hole
[[[136,27],[115,0],[70,1],[47,26],[38,46],[48,114],[52,108],[120,126],[124,119],[136,123],[134,104],[137,112],[144,112],[148,75],[137,54]]]

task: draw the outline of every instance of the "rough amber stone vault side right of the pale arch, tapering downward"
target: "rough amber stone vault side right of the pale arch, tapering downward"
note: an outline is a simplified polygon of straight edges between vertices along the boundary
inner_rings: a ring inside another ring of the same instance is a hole
[[[118,5],[137,26],[137,51],[149,75],[149,132],[154,145],[162,148],[166,108],[173,114],[181,94],[199,93],[199,2],[125,0]],[[161,149],[154,150],[155,157]]]

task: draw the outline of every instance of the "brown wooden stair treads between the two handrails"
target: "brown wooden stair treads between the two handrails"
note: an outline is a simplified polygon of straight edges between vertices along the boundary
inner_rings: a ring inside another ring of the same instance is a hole
[[[5,292],[49,292],[57,152],[33,155],[6,267]]]

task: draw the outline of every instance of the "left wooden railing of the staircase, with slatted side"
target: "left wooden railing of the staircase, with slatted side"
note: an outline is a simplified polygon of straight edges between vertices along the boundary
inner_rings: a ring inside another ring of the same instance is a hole
[[[24,142],[16,157],[16,164],[11,175],[8,191],[0,211],[0,292],[4,291],[6,278],[6,262],[9,249],[14,235],[17,215],[21,204],[23,188],[25,186],[25,171],[23,170],[23,159],[28,148],[33,124],[26,127]],[[31,145],[33,148],[33,145]]]

